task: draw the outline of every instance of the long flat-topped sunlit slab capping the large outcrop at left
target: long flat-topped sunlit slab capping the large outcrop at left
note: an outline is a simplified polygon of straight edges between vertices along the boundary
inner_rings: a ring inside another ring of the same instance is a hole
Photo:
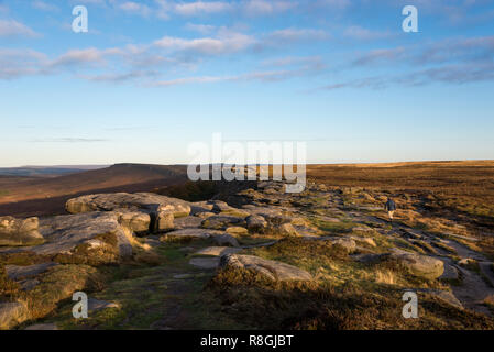
[[[69,199],[65,208],[72,213],[111,211],[123,208],[147,213],[168,211],[176,218],[190,213],[190,206],[187,201],[150,193],[87,195]]]

